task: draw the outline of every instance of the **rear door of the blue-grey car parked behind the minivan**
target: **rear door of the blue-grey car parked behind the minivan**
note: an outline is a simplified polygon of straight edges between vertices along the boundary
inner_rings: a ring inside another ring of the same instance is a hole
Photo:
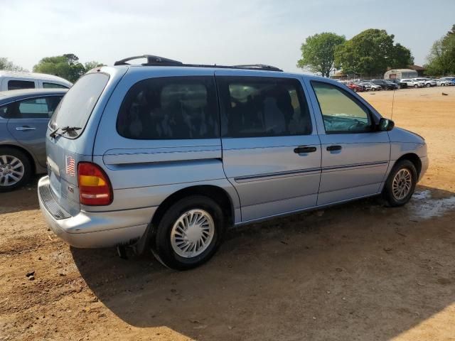
[[[45,167],[45,131],[63,94],[22,99],[11,104],[8,131]]]

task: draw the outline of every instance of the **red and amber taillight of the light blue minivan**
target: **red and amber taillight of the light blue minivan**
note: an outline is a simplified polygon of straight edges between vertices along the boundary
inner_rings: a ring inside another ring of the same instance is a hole
[[[112,202],[112,186],[106,173],[91,162],[77,164],[79,198],[82,205],[109,205]]]

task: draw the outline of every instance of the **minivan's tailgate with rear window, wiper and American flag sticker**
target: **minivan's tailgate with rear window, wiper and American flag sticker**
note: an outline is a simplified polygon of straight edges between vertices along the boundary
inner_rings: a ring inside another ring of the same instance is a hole
[[[117,75],[117,77],[121,77]],[[70,215],[80,211],[77,187],[77,163],[92,161],[93,141],[102,114],[109,98],[104,92],[109,81],[117,82],[117,77],[107,73],[88,73],[75,83],[55,109],[45,136],[48,175],[50,188],[58,203]],[[95,124],[90,124],[90,120]],[[76,130],[63,131],[70,126]],[[55,136],[50,136],[57,131]]]

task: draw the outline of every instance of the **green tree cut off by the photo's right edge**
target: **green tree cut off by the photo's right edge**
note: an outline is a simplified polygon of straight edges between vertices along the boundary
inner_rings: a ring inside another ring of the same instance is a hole
[[[455,25],[444,37],[433,43],[425,67],[428,75],[455,74]]]

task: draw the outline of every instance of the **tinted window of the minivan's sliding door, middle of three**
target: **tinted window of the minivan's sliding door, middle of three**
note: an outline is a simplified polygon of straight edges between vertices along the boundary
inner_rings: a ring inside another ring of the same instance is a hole
[[[217,77],[223,137],[311,134],[311,117],[299,80]]]

